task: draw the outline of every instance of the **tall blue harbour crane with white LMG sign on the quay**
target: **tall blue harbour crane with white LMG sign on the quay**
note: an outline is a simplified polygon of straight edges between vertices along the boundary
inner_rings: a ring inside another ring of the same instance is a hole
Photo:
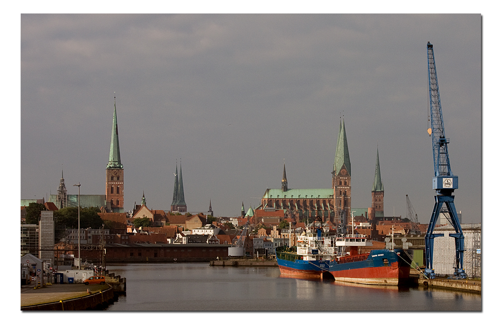
[[[444,236],[444,234],[433,233],[434,227],[439,217],[441,207],[446,205],[448,210],[448,221],[455,229],[455,233],[449,236],[455,239],[455,267],[454,277],[466,278],[463,269],[464,258],[464,235],[460,222],[458,221],[457,211],[453,203],[453,191],[458,188],[458,177],[454,176],[450,168],[450,158],[448,155],[449,138],[445,137],[443,125],[443,113],[441,112],[441,100],[439,98],[438,78],[436,74],[436,62],[434,60],[434,50],[430,42],[427,43],[427,54],[429,63],[429,98],[431,106],[431,129],[429,134],[432,135],[432,151],[434,156],[434,178],[432,187],[436,190],[436,204],[432,212],[431,221],[425,235],[425,258],[426,269],[425,274],[429,279],[434,279],[436,274],[432,266],[434,252],[434,238]]]

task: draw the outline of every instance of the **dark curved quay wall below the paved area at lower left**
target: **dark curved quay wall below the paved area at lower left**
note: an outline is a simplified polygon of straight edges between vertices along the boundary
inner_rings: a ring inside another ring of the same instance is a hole
[[[114,302],[113,288],[88,296],[21,307],[21,310],[90,310],[103,309]]]

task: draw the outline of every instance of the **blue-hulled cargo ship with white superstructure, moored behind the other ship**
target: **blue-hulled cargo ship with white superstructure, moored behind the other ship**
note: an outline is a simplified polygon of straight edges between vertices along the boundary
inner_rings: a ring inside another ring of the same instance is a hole
[[[329,262],[336,255],[335,236],[321,227],[306,229],[296,241],[296,247],[276,249],[281,275],[302,278],[322,278],[329,274]]]

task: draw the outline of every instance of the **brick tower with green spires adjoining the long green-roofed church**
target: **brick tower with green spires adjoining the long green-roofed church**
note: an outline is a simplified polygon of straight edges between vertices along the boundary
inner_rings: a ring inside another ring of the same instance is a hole
[[[333,198],[335,204],[334,222],[346,227],[351,208],[351,169],[348,154],[345,120],[340,121],[336,143],[335,163],[332,172]]]

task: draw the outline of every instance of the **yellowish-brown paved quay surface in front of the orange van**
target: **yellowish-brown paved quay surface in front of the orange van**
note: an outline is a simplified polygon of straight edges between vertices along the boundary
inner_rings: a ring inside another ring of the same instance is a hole
[[[35,304],[43,304],[72,298],[86,296],[89,293],[95,293],[108,289],[108,284],[90,284],[83,283],[63,283],[46,285],[41,288],[35,288],[35,283],[21,286],[21,307]],[[88,291],[87,291],[88,289]]]

